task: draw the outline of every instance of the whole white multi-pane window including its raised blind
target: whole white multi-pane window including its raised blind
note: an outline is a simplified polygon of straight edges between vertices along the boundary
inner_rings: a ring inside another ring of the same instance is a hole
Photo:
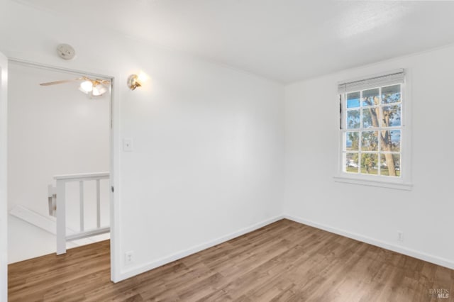
[[[404,139],[404,71],[339,84],[340,176],[404,184],[409,150]],[[370,184],[370,183],[369,183]],[[399,188],[401,189],[401,188]]]

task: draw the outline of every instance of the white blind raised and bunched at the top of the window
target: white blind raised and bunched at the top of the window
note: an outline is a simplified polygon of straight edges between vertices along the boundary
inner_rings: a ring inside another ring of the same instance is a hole
[[[404,69],[397,69],[385,74],[378,74],[365,79],[345,81],[338,84],[339,94],[346,94],[352,91],[360,91],[369,88],[387,86],[391,84],[404,83]]]

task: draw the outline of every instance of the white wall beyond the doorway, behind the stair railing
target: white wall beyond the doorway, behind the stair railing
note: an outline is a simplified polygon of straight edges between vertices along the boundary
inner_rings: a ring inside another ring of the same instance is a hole
[[[23,206],[47,217],[55,175],[109,171],[110,94],[89,99],[79,82],[39,85],[76,77],[10,63],[9,211]],[[84,218],[86,230],[96,228],[94,181],[84,184]],[[9,218],[9,263],[55,252],[55,236],[27,224]],[[101,181],[101,225],[109,225],[109,181]],[[67,226],[79,230],[78,183],[67,185]]]

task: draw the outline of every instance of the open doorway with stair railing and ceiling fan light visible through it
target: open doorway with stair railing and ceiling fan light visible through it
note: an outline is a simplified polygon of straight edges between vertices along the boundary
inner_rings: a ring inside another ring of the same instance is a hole
[[[113,78],[9,63],[8,263],[109,239]]]

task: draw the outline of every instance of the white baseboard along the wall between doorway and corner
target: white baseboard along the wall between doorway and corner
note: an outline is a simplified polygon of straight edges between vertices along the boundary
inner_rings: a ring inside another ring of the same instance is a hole
[[[128,279],[131,276],[142,274],[143,272],[147,272],[150,269],[155,269],[156,267],[160,267],[160,266],[162,266],[164,264],[173,262],[175,260],[182,259],[182,258],[187,257],[189,255],[195,254],[196,252],[200,252],[201,250],[206,250],[209,247],[214,247],[215,245],[218,245],[218,244],[220,244],[222,242],[226,242],[228,240],[231,240],[233,238],[239,237],[239,236],[244,235],[246,233],[250,233],[250,232],[252,232],[254,230],[257,230],[259,228],[264,227],[265,225],[269,225],[270,223],[274,223],[277,220],[281,220],[282,218],[284,218],[284,216],[282,216],[282,215],[275,216],[274,218],[270,218],[270,219],[264,220],[264,221],[262,221],[260,223],[255,223],[255,225],[251,225],[251,226],[249,226],[247,228],[243,228],[241,230],[238,230],[237,232],[230,233],[230,234],[222,236],[222,237],[218,237],[218,238],[216,238],[214,240],[211,240],[209,242],[202,243],[201,245],[196,245],[194,247],[190,247],[187,250],[182,250],[182,251],[176,252],[175,254],[172,254],[170,256],[162,257],[162,258],[157,259],[157,260],[155,260],[153,262],[148,262],[147,264],[140,265],[140,267],[133,267],[131,269],[124,270],[123,272],[121,272],[120,276],[118,276],[118,280],[116,280],[116,282],[117,281],[122,281],[124,279]]]

